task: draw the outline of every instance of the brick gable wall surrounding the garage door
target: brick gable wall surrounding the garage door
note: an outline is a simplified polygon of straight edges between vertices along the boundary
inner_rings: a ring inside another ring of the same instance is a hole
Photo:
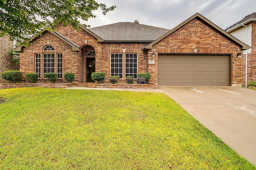
[[[152,50],[156,57],[152,58]],[[193,19],[180,29],[176,30],[160,42],[153,45],[148,53],[149,59],[154,59],[155,64],[148,65],[148,72],[152,74],[150,81],[158,82],[158,53],[223,53],[232,56],[232,85],[241,85],[242,58],[237,58],[239,47],[230,42],[198,19]],[[195,52],[196,51],[196,52]]]

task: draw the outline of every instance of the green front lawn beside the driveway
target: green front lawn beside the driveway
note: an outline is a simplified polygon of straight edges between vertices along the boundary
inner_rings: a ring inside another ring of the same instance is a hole
[[[255,170],[162,93],[0,90],[0,169]]]

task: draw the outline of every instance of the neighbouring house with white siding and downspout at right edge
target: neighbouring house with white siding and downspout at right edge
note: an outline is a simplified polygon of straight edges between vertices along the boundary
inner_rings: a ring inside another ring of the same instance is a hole
[[[256,81],[256,12],[228,27],[226,32],[251,47],[245,49],[242,55],[244,83],[247,85],[249,81]]]

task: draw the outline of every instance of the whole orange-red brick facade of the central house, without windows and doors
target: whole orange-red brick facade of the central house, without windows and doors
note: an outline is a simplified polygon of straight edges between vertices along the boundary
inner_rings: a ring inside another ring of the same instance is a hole
[[[109,82],[111,53],[123,54],[123,77],[125,77],[125,54],[137,53],[138,73],[146,73],[148,71],[152,75],[150,83],[158,83],[158,53],[195,53],[195,51],[196,53],[222,53],[232,55],[232,84],[240,85],[243,82],[242,59],[236,57],[236,54],[239,52],[239,47],[198,19],[188,22],[188,24],[184,25],[182,28],[156,43],[152,50],[148,51],[148,59],[154,59],[155,64],[147,64],[147,54],[142,51],[143,47],[148,45],[148,43],[101,43],[84,30],[74,30],[71,26],[63,27],[62,24],[60,24],[56,30],[79,45],[81,51],[72,51],[70,45],[50,32],[47,32],[36,39],[32,45],[25,47],[24,51],[20,53],[20,70],[23,74],[34,73],[35,53],[41,54],[42,65],[42,54],[44,53],[42,50],[46,45],[52,45],[55,48],[55,61],[56,53],[62,53],[62,72],[74,73],[75,81],[78,83],[86,82],[86,58],[88,57],[86,54],[90,50],[95,50],[96,52],[96,72],[100,71],[106,73],[105,83]],[[153,50],[156,53],[156,57],[154,58],[152,58]],[[63,78],[62,80],[64,81]],[[124,83],[125,80],[120,79],[119,82]]]

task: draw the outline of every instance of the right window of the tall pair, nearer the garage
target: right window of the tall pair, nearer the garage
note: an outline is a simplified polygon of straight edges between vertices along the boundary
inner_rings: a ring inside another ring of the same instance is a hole
[[[125,54],[125,77],[133,76],[137,79],[138,54]]]

